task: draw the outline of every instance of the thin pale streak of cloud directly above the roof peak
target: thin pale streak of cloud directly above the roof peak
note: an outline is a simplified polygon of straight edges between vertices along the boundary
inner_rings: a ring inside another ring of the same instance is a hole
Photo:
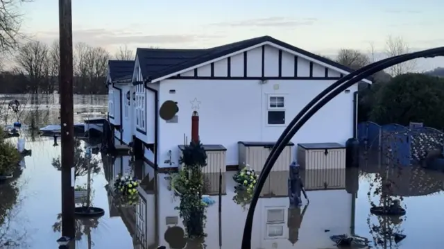
[[[221,22],[212,24],[215,26],[234,26],[234,27],[293,27],[309,26],[316,23],[316,18],[290,18],[290,17],[266,17],[259,19],[246,19],[236,22]]]

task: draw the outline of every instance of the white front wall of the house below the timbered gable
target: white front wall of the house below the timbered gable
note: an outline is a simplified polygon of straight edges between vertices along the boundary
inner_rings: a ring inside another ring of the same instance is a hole
[[[276,141],[291,119],[314,96],[334,83],[334,80],[163,80],[160,83],[159,102],[178,102],[178,123],[159,124],[159,166],[169,159],[178,158],[178,144],[184,134],[191,136],[191,101],[200,102],[199,135],[203,144],[222,144],[227,148],[227,164],[237,165],[238,141]],[[169,94],[169,90],[176,94]],[[300,129],[293,143],[339,142],[344,144],[353,133],[353,94],[341,93],[319,110]],[[268,96],[284,96],[285,124],[268,125]],[[293,154],[296,149],[293,150]],[[177,160],[174,165],[178,165]]]

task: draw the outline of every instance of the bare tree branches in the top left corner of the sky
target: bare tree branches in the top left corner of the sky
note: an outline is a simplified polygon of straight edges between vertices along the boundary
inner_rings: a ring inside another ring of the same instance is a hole
[[[19,12],[19,4],[32,0],[0,0],[0,51],[6,52],[17,48],[19,38],[24,37],[20,33],[22,15]]]

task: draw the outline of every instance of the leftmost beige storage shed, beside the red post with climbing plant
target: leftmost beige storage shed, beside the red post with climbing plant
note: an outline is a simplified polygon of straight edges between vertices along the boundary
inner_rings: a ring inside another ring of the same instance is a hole
[[[182,151],[185,146],[179,145],[179,158],[182,156]],[[226,157],[227,148],[221,144],[203,144],[203,148],[207,153],[207,166],[203,167],[203,173],[224,173],[227,169]]]

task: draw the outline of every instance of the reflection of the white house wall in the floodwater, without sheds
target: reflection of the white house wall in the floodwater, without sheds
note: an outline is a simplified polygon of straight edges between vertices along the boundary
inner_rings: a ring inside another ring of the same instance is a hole
[[[159,181],[159,244],[169,248],[164,239],[167,227],[167,217],[179,216],[175,207],[179,205],[178,198],[171,198],[167,189],[168,182],[165,175],[158,175]],[[287,182],[283,184],[287,185]],[[234,186],[227,184],[227,194],[222,196],[221,232],[223,249],[239,248],[242,241],[242,232],[248,210],[234,203],[232,198]],[[310,205],[307,207],[299,230],[299,240],[293,246],[288,240],[287,217],[289,198],[260,198],[255,210],[255,219],[252,231],[251,248],[305,248],[319,249],[332,248],[331,235],[350,234],[352,196],[345,190],[307,191]],[[205,244],[207,248],[219,248],[219,198],[212,198],[215,203],[207,207],[207,222],[205,225]],[[306,203],[303,202],[303,205]],[[327,204],[327,205],[326,205]],[[266,210],[269,208],[284,209],[284,237],[279,239],[266,238]],[[184,227],[182,219],[178,218],[180,227]],[[330,230],[330,232],[325,232]],[[273,246],[277,243],[277,246]]]

